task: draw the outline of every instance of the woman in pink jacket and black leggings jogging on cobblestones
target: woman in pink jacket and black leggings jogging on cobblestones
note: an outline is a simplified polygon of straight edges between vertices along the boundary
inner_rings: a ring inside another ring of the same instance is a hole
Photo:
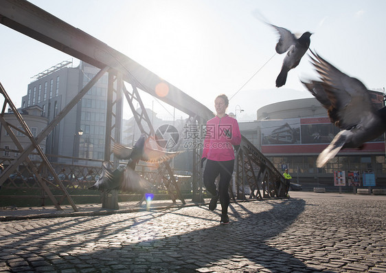
[[[204,170],[204,184],[212,199],[209,203],[209,210],[215,210],[217,201],[220,199],[221,219],[220,223],[229,223],[229,182],[234,171],[234,149],[232,145],[239,145],[241,142],[240,129],[236,119],[229,117],[227,110],[229,100],[221,94],[214,100],[216,117],[208,120],[206,135],[201,157],[201,168],[207,160]],[[218,189],[215,180],[220,175]]]

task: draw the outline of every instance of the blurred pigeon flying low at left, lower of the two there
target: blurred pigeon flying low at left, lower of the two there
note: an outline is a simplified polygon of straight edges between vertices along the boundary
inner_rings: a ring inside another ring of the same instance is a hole
[[[130,162],[130,161],[129,161]],[[132,168],[120,165],[114,171],[109,168],[109,162],[102,162],[102,175],[89,190],[122,190],[128,193],[145,194],[150,191],[153,185],[138,175]],[[142,204],[144,198],[139,201]]]

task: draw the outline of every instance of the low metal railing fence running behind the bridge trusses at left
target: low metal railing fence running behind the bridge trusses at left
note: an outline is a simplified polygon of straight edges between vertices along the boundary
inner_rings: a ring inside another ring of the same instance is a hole
[[[12,164],[13,161],[14,159],[10,157],[0,157],[0,162],[5,168],[7,168],[9,164]],[[76,162],[84,161],[84,158],[76,158]],[[100,175],[102,175],[102,160],[87,161],[92,162],[92,164],[72,165],[51,162],[56,175],[58,176],[58,179],[60,179],[60,182],[63,184],[69,195],[75,199],[78,199],[78,202],[76,202],[78,204],[85,201],[98,202],[100,200],[100,192],[98,190],[89,190],[88,188],[93,186],[93,184],[95,184],[95,182],[100,178]],[[33,161],[33,163],[37,166],[38,172],[41,175],[43,182],[49,186],[54,195],[60,197],[59,185],[54,179],[53,175],[47,172],[43,162]],[[126,162],[122,162],[122,164],[126,164]],[[139,173],[139,175],[154,185],[152,188],[152,193],[155,193],[156,195],[166,195],[166,198],[168,198],[168,195],[170,195],[170,190],[174,190],[173,188],[170,188],[170,183],[168,183],[170,177],[162,173],[159,166],[152,164],[137,164],[136,171]],[[179,184],[178,191],[181,190],[181,192],[185,195],[191,194],[192,177],[190,175],[178,175],[178,173],[188,173],[188,171],[173,171],[174,173],[177,173],[177,175],[174,175],[174,178]],[[122,196],[125,195],[126,197],[130,195],[133,199],[140,199],[139,196],[133,196],[139,195],[139,193],[122,193]],[[38,179],[36,179],[35,175],[32,174],[32,171],[30,171],[30,168],[27,166],[27,164],[22,164],[16,168],[16,171],[14,171],[14,173],[12,173],[12,175],[10,175],[5,180],[3,185],[1,185],[0,199],[2,200],[0,201],[0,206],[5,206],[5,204],[36,204],[36,206],[44,206],[45,204],[49,204],[47,195],[45,195],[45,192],[39,184]],[[19,202],[17,199],[21,199],[22,201]],[[25,200],[27,199],[36,199],[38,201],[35,200],[26,203]],[[84,201],[80,199],[84,199]],[[65,200],[62,200],[62,202],[65,202]]]

